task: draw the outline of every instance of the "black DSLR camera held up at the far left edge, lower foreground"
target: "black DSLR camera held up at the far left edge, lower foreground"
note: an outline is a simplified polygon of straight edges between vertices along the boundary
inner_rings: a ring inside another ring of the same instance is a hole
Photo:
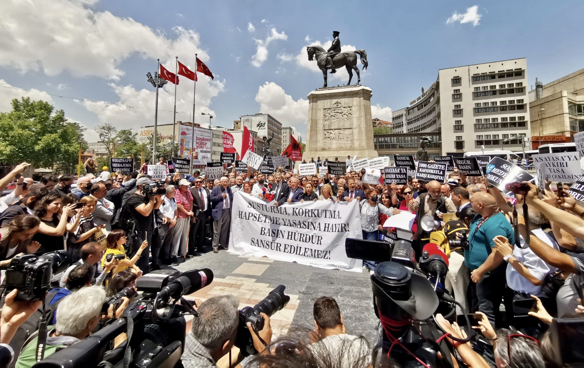
[[[6,270],[6,293],[18,289],[16,300],[41,300],[51,289],[53,274],[64,271],[68,265],[67,251],[15,257]]]

